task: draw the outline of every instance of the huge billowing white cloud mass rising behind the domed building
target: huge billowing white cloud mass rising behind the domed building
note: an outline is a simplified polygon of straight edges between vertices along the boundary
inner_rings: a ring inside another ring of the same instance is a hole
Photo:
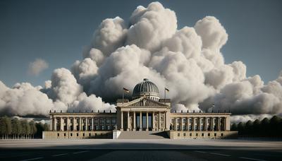
[[[48,114],[49,109],[114,112],[111,103],[121,97],[123,87],[130,90],[125,95],[130,98],[134,86],[149,78],[161,97],[164,87],[170,89],[166,97],[172,111],[282,113],[282,71],[266,84],[258,75],[247,78],[242,61],[224,61],[221,48],[227,40],[225,28],[213,16],[178,30],[174,11],[159,2],[138,6],[129,20],[103,20],[83,59],[71,71],[56,69],[44,88],[0,83],[0,110],[22,115]]]

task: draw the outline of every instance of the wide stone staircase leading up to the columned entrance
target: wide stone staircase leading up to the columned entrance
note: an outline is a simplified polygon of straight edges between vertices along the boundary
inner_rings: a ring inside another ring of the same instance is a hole
[[[121,131],[118,139],[166,139],[166,131]]]

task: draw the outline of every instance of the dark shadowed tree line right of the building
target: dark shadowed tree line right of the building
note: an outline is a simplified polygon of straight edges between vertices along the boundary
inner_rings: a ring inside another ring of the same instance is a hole
[[[243,137],[282,137],[282,118],[274,116],[271,119],[239,122],[232,124],[231,131],[238,131]]]

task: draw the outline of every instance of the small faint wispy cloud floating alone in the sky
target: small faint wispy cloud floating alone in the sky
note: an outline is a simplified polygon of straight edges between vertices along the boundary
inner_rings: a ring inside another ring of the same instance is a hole
[[[35,59],[35,61],[30,62],[28,65],[28,71],[30,75],[38,76],[39,73],[47,69],[49,65],[43,59]]]

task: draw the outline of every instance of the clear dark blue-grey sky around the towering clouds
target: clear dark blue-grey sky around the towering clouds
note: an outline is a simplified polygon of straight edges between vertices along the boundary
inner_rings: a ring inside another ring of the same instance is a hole
[[[105,18],[128,20],[139,6],[152,1],[0,1],[0,80],[44,85],[55,68],[70,68],[82,59],[94,30]],[[226,63],[243,61],[247,76],[264,82],[282,69],[282,1],[160,1],[176,12],[178,29],[193,27],[204,16],[215,16],[228,33],[223,46]],[[30,63],[48,66],[30,74]]]

